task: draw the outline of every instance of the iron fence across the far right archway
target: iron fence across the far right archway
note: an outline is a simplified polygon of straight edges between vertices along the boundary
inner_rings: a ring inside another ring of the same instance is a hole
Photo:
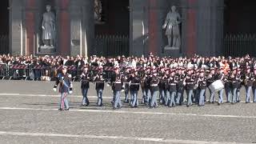
[[[225,56],[256,56],[256,34],[226,34],[224,38]]]

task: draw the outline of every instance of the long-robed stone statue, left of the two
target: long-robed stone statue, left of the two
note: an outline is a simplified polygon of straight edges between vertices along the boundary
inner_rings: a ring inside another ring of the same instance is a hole
[[[46,6],[46,12],[42,15],[42,42],[44,46],[54,46],[55,14],[50,11],[51,6]]]

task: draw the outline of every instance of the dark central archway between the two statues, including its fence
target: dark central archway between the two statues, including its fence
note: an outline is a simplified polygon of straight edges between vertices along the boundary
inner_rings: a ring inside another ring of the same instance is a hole
[[[101,0],[102,22],[95,22],[96,54],[129,54],[129,0]]]

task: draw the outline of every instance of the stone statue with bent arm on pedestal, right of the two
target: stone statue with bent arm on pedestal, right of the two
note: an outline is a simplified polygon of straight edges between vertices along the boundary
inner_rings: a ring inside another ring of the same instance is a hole
[[[171,11],[166,16],[166,21],[162,26],[166,29],[166,36],[168,38],[168,48],[178,49],[181,46],[179,24],[181,23],[181,16],[176,11],[176,6],[171,6]]]

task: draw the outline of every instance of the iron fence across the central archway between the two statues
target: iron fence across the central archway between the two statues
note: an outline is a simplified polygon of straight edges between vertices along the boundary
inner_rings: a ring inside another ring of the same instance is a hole
[[[96,35],[95,54],[102,56],[129,55],[129,36]]]

